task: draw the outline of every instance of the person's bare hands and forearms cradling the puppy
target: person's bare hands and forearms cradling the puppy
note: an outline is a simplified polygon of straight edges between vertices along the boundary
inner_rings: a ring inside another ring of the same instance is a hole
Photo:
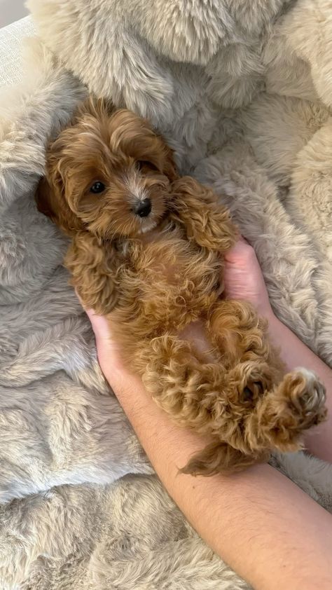
[[[250,301],[268,319],[287,369],[305,366],[319,375],[331,414],[332,371],[277,320],[254,250],[244,240],[226,256],[224,281],[228,298]],[[87,313],[106,379],[155,472],[201,537],[256,590],[330,590],[331,514],[269,465],[209,478],[181,474],[205,441],[174,425],[156,406],[141,380],[123,366],[108,322]],[[312,453],[330,461],[331,431],[330,416],[306,439]]]

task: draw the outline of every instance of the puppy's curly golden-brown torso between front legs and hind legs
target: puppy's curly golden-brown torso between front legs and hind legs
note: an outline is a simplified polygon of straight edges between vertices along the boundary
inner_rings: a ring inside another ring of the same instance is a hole
[[[218,299],[219,256],[174,235],[135,242],[126,254],[111,321],[127,359],[165,334],[189,341],[194,356],[215,362],[205,323]]]

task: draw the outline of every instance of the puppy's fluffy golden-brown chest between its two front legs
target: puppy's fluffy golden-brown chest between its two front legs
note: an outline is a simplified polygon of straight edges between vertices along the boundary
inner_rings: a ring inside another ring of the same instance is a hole
[[[128,240],[123,244],[123,257],[126,287],[132,287],[132,296],[146,313],[168,317],[190,310],[199,315],[218,296],[219,256],[187,240],[179,230],[152,239]]]

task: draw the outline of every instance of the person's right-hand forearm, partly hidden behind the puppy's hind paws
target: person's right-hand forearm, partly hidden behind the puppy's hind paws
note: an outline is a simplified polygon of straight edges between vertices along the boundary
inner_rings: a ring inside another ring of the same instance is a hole
[[[317,355],[299,340],[277,317],[269,318],[270,338],[279,348],[282,360],[289,371],[299,366],[314,371],[326,387],[326,422],[312,428],[305,437],[308,450],[317,457],[332,462],[332,371]]]

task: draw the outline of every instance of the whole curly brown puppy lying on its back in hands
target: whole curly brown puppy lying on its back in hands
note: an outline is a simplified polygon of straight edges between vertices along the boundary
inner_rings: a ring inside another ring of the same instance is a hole
[[[265,322],[249,304],[220,299],[220,254],[235,226],[209,188],[179,177],[146,121],[84,104],[50,144],[36,199],[72,238],[65,263],[83,304],[109,316],[162,409],[208,437],[185,472],[300,448],[303,431],[324,419],[324,387],[309,371],[284,376]],[[188,336],[194,322],[205,329],[200,346]]]

